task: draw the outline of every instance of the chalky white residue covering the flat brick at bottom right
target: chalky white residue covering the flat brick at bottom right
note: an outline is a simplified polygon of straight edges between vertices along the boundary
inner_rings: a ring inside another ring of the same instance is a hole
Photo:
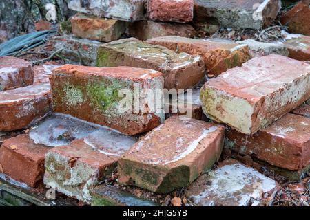
[[[209,183],[199,195],[190,197],[194,203],[215,206],[214,200],[237,202],[249,206],[251,199],[260,201],[266,192],[276,188],[276,181],[242,164],[225,165],[212,173]],[[252,205],[257,205],[258,202]]]

